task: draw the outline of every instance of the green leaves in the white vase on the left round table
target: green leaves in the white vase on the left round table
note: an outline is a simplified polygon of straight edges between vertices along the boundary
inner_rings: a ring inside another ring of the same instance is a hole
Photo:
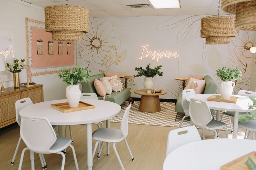
[[[87,78],[92,77],[91,70],[82,66],[77,66],[73,70],[63,69],[58,73],[58,77],[62,78],[62,82],[68,85],[76,85],[87,81]]]

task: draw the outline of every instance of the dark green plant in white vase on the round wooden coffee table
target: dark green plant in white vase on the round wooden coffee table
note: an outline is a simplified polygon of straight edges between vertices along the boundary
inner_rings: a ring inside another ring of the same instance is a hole
[[[150,68],[150,63],[147,65],[146,69],[142,69],[142,67],[135,67],[135,71],[138,71],[137,75],[134,75],[134,77],[141,77],[145,76],[144,78],[144,88],[147,89],[152,89],[153,87],[153,77],[155,75],[158,76],[163,76],[163,72],[160,72],[159,70],[161,69],[162,66],[157,66],[155,68]]]

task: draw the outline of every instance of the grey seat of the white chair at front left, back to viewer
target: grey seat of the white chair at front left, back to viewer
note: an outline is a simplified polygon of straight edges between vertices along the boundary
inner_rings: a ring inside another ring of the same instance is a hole
[[[67,148],[72,140],[66,137],[57,137],[55,143],[50,147],[53,153],[59,152]]]

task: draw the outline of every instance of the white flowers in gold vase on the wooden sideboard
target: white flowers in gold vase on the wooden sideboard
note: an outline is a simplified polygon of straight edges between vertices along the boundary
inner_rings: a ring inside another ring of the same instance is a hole
[[[10,63],[6,63],[6,68],[13,73],[14,88],[20,88],[20,72],[23,68],[26,68],[25,60],[12,58]]]

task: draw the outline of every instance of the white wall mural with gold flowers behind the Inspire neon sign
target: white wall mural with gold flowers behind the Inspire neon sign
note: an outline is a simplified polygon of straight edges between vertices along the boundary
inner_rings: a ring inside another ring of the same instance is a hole
[[[90,18],[90,32],[77,44],[78,64],[95,75],[118,72],[121,76],[133,76],[135,67],[146,67],[148,63],[152,67],[162,65],[163,76],[154,77],[154,88],[167,91],[161,96],[164,99],[177,99],[181,86],[174,78],[210,75],[220,83],[215,70],[222,65],[238,67],[243,72],[234,93],[249,90],[251,64],[255,65],[249,51],[253,32],[237,32],[230,44],[206,45],[200,37],[202,17]],[[143,88],[143,78],[128,80],[128,87],[132,97],[140,97],[133,91]]]

